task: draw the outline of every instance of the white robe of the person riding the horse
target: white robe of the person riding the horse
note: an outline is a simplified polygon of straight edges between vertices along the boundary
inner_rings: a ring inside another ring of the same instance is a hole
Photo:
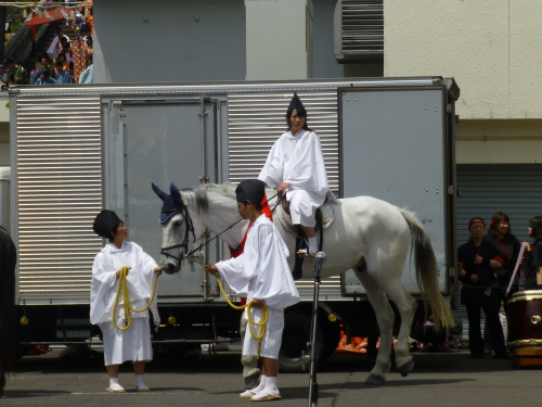
[[[300,129],[296,136],[287,131],[275,141],[258,179],[271,188],[282,182],[291,185],[286,191],[294,225],[313,227],[314,214],[330,191],[320,139],[313,131]]]

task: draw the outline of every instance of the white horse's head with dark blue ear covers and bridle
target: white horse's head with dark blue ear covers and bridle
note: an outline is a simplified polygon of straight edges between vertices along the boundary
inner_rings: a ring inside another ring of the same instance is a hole
[[[164,192],[154,183],[153,190],[163,201],[160,209],[160,267],[168,275],[172,275],[181,269],[182,258],[186,255],[193,227],[181,192],[173,182],[169,185],[169,193]]]

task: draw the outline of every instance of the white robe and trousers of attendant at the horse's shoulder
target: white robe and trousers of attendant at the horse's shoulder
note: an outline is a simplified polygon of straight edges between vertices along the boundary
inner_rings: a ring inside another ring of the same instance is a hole
[[[243,254],[219,262],[217,268],[228,284],[240,295],[263,300],[268,323],[261,341],[261,356],[276,359],[284,329],[284,308],[299,302],[299,294],[288,268],[288,249],[273,222],[261,215],[248,231]],[[260,321],[261,310],[253,308],[253,319]],[[243,318],[246,319],[246,313]],[[259,332],[258,327],[255,333]],[[256,356],[257,341],[246,330],[243,355]]]

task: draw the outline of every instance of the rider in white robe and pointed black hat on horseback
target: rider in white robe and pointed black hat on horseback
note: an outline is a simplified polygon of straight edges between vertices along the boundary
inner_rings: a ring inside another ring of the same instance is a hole
[[[294,93],[286,112],[288,131],[275,141],[258,179],[286,194],[292,222],[300,225],[308,241],[308,253],[318,252],[314,215],[330,191],[322,147],[317,133],[307,126],[307,111]]]

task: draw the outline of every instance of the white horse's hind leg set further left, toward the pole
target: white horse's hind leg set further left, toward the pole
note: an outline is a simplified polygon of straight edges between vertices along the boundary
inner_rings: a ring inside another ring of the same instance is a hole
[[[390,355],[392,345],[392,329],[395,314],[389,305],[386,293],[380,290],[376,281],[367,274],[366,270],[354,270],[356,276],[360,279],[365,288],[367,298],[376,314],[378,328],[380,329],[380,348],[376,363],[371,370],[371,374],[365,380],[366,384],[383,384],[386,381],[385,373],[389,372]]]

